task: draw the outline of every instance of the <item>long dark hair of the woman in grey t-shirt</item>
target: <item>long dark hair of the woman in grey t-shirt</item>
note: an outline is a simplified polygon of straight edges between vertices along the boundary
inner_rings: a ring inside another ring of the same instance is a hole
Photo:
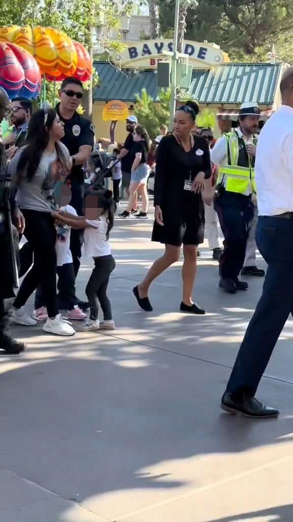
[[[49,143],[50,131],[56,115],[57,113],[54,109],[40,109],[33,113],[29,122],[28,135],[25,142],[26,147],[21,152],[17,165],[18,179],[22,176],[25,176],[28,181],[33,179],[33,176],[40,165],[42,154]],[[62,164],[64,172],[67,173],[67,161],[58,141],[56,141],[55,147],[57,158]]]

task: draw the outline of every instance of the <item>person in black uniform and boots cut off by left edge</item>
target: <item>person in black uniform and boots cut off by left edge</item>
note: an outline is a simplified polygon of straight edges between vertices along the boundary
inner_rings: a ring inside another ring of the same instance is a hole
[[[8,96],[0,87],[0,122],[10,112]],[[4,300],[14,296],[16,286],[15,274],[17,267],[14,256],[14,240],[12,229],[9,227],[9,211],[14,215],[14,222],[19,233],[25,229],[25,220],[19,209],[15,207],[13,198],[10,197],[11,185],[6,177],[5,145],[0,141],[0,349],[7,353],[18,354],[25,349],[22,342],[9,337],[7,334],[7,316]],[[10,222],[11,224],[11,222]]]

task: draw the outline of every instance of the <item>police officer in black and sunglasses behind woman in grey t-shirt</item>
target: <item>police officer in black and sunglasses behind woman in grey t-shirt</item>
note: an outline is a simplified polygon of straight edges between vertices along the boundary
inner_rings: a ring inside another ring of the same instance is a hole
[[[90,120],[81,116],[78,106],[82,101],[83,86],[77,78],[66,78],[59,90],[60,103],[56,111],[60,120],[64,123],[64,138],[62,143],[66,145],[72,159],[72,170],[69,174],[72,198],[70,205],[74,207],[79,216],[82,216],[83,201],[83,165],[87,163],[94,147],[94,125]],[[75,275],[80,267],[81,245],[83,243],[83,231],[71,230],[70,250],[72,253]],[[82,309],[85,303],[77,303]],[[59,307],[62,308],[62,303]]]

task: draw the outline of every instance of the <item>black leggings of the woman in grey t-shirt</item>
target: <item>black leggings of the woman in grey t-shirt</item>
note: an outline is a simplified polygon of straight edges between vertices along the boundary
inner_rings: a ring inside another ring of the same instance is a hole
[[[42,282],[49,317],[58,314],[56,299],[56,229],[49,212],[22,210],[26,220],[24,235],[33,250],[33,266],[23,279],[14,306],[25,305]]]

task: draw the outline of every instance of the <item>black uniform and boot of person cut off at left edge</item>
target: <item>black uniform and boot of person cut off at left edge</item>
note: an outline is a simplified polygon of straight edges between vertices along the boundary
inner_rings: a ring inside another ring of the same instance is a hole
[[[7,181],[5,148],[0,146],[0,348],[7,353],[20,353],[25,345],[9,337],[6,331],[8,317],[4,300],[15,297],[14,287],[18,286],[10,215],[10,211],[14,213],[15,203]]]

